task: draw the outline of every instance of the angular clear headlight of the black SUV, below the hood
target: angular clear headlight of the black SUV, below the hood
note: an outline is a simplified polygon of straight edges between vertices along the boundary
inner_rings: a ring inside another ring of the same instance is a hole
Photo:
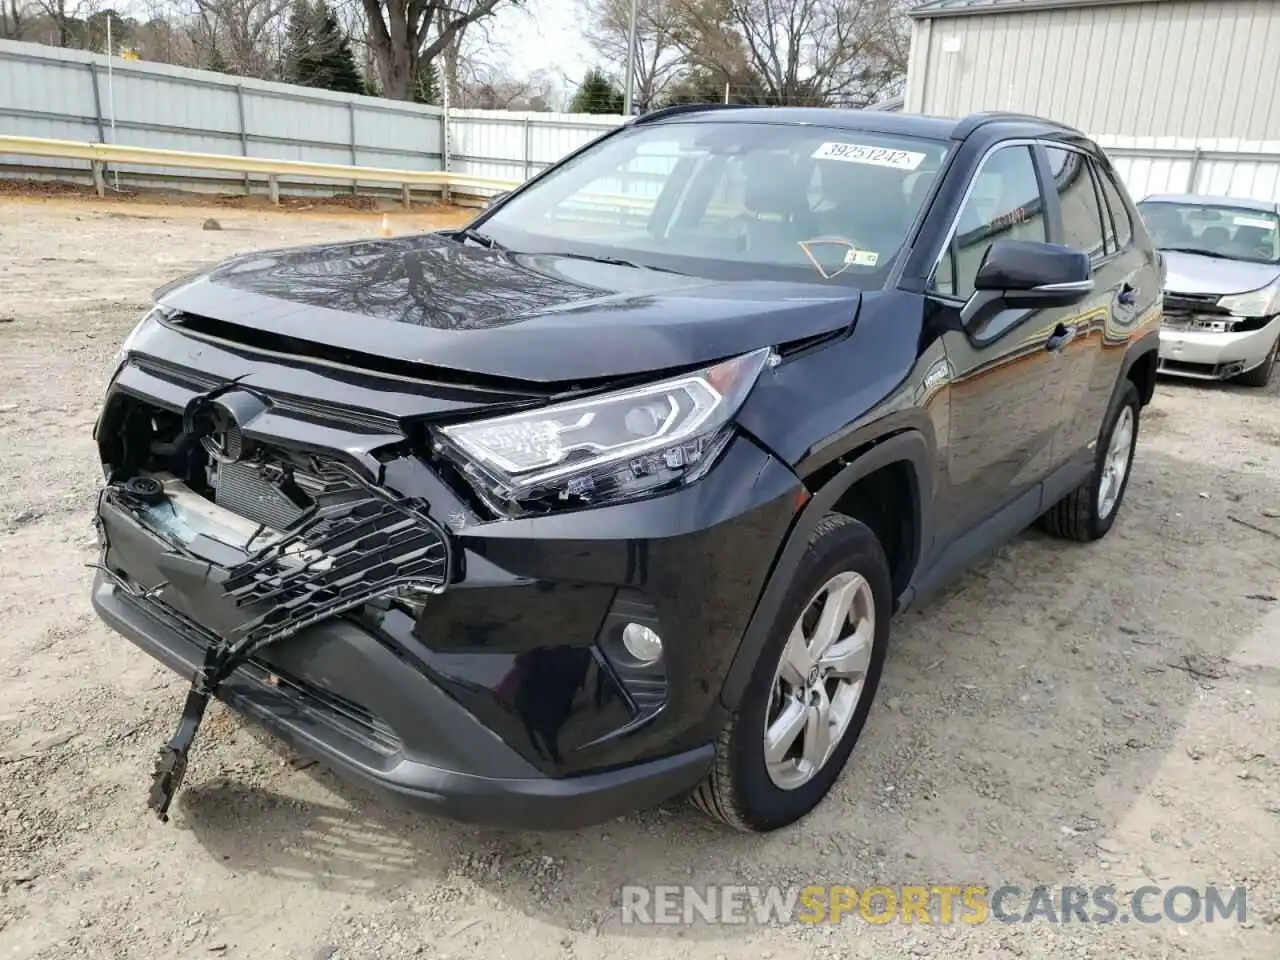
[[[444,426],[434,449],[499,513],[602,503],[701,476],[771,351],[659,383]]]

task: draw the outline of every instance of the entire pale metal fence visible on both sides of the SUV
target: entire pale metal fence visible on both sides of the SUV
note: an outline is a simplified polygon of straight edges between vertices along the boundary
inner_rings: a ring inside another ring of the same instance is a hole
[[[500,110],[449,110],[445,119],[434,106],[0,41],[0,134],[9,136],[518,180],[622,119]],[[1280,143],[1094,136],[1135,197],[1190,192],[1280,202]],[[186,189],[266,191],[252,174],[115,173],[129,186],[180,178]],[[0,155],[0,175],[87,182],[90,172],[81,161]],[[298,178],[279,187],[300,192],[321,183]]]

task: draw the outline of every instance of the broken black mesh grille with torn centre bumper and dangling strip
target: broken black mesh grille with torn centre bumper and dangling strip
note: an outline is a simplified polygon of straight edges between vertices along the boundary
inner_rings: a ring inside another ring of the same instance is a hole
[[[275,499],[297,509],[287,534],[204,500],[172,475],[138,472],[109,483],[99,497],[100,570],[138,602],[207,630],[178,728],[156,762],[150,805],[161,819],[182,786],[209,699],[237,666],[347,611],[448,582],[448,539],[424,503],[393,497],[338,462],[306,460],[314,493],[306,509],[276,484],[250,486],[250,511],[264,500],[283,509]],[[115,572],[122,544],[131,579]]]

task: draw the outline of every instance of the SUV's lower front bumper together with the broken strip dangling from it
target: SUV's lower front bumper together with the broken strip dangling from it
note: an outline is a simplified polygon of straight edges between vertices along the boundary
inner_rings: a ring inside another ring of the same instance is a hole
[[[550,829],[600,822],[692,787],[710,763],[708,746],[620,771],[548,777],[424,675],[407,669],[375,635],[343,618],[300,628],[298,643],[241,648],[243,655],[212,677],[218,659],[211,652],[225,641],[177,607],[207,609],[206,617],[221,609],[227,616],[232,571],[210,564],[200,575],[204,588],[188,584],[175,596],[161,577],[172,577],[174,563],[187,558],[175,556],[173,541],[113,497],[102,498],[99,517],[105,549],[93,582],[95,611],[192,682],[178,731],[154,776],[150,804],[161,817],[182,782],[209,696],[349,780],[475,823]],[[143,572],[122,577],[113,572],[116,557],[128,557],[131,570]],[[175,605],[161,599],[166,593]],[[364,704],[376,704],[378,713]]]

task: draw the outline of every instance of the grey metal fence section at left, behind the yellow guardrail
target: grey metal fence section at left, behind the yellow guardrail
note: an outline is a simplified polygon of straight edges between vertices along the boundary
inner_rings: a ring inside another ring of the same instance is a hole
[[[8,134],[439,170],[442,115],[433,106],[0,41],[0,132]],[[68,170],[88,174],[83,161],[0,156],[0,173]],[[212,170],[120,166],[115,174],[129,184],[247,186],[239,174]]]

